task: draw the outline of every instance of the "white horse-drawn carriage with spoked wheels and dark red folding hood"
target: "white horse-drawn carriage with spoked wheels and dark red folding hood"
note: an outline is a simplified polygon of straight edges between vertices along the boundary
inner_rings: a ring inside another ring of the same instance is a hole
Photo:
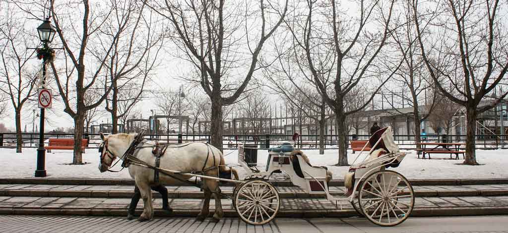
[[[266,168],[261,171],[245,162],[245,147],[240,145],[238,163],[246,170],[247,179],[235,188],[233,207],[249,224],[273,220],[280,208],[280,197],[269,179],[274,173],[282,173],[308,193],[325,194],[329,201],[339,203],[341,209],[343,202],[351,203],[360,215],[377,225],[400,224],[413,209],[414,191],[404,176],[386,169],[397,167],[405,153],[399,152],[393,142],[390,127],[380,129],[370,141],[374,143],[372,149],[362,162],[352,165],[345,177],[347,197],[332,196],[326,167],[313,167],[300,154],[292,156],[294,148],[290,143],[270,148]]]

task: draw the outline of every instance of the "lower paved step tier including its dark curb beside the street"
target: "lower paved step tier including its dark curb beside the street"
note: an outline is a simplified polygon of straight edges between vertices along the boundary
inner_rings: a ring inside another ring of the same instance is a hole
[[[101,215],[126,216],[130,198],[107,197],[39,197],[39,196],[0,196],[0,214],[52,214],[52,215]],[[196,216],[203,204],[198,198],[170,198],[174,208],[173,216]],[[226,216],[236,216],[229,199],[222,201]],[[143,207],[138,205],[138,213]],[[210,203],[214,207],[214,200]],[[351,204],[347,202],[336,206],[324,198],[285,198],[281,199],[278,215],[285,217],[324,217],[355,216]],[[160,198],[154,198],[156,216],[168,216],[162,209]],[[481,215],[508,214],[508,195],[503,196],[448,196],[416,197],[417,216],[438,215]]]

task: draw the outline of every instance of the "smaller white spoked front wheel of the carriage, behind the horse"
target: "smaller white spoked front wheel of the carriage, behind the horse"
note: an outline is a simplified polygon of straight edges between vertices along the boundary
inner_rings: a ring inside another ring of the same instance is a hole
[[[280,207],[277,189],[264,180],[249,180],[238,187],[234,208],[240,218],[252,225],[272,221]]]

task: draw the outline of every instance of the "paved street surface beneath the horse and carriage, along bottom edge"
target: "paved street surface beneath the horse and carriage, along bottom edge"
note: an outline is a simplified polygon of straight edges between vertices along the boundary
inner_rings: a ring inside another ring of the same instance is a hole
[[[0,232],[414,232],[414,233],[508,233],[508,216],[409,218],[394,227],[376,226],[363,218],[277,218],[262,226],[247,225],[237,218],[218,223],[194,218],[156,218],[138,222],[120,217],[0,215]]]

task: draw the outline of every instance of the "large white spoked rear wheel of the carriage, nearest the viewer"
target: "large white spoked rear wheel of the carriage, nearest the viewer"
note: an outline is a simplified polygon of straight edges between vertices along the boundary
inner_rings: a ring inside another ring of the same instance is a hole
[[[415,194],[409,181],[389,170],[369,175],[358,194],[364,216],[380,226],[402,223],[415,205]]]

